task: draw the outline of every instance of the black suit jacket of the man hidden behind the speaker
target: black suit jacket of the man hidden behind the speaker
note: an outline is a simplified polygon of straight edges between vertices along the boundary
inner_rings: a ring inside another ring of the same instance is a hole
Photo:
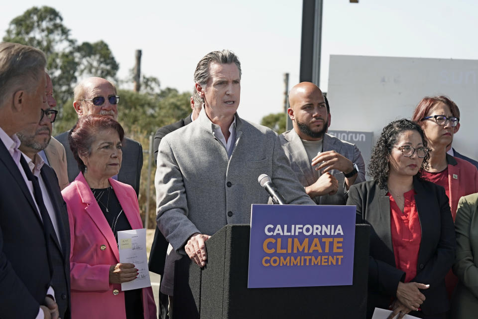
[[[176,131],[177,129],[182,128],[183,126],[191,123],[191,114],[182,120],[179,120],[176,123],[163,126],[156,131],[154,136],[154,162],[158,157],[158,147],[161,139],[165,137],[168,133]],[[166,251],[168,249],[168,242],[164,238],[163,234],[159,231],[158,225],[156,225],[156,230],[154,231],[153,244],[151,245],[151,252],[149,253],[149,270],[153,273],[163,275],[164,273],[164,262],[166,261]]]

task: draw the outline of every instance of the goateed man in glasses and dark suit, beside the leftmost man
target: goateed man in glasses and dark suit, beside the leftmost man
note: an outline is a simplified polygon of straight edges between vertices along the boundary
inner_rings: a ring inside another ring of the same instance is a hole
[[[45,74],[45,76],[47,76]],[[49,104],[47,104],[49,107]],[[38,178],[43,202],[51,219],[54,232],[49,243],[50,262],[53,270],[51,286],[55,291],[60,318],[70,318],[70,226],[68,211],[61,195],[55,171],[45,165],[38,154],[43,151],[51,139],[52,123],[56,111],[50,108],[42,112],[36,131],[21,130],[16,136],[21,142],[19,150],[23,153],[29,169]]]

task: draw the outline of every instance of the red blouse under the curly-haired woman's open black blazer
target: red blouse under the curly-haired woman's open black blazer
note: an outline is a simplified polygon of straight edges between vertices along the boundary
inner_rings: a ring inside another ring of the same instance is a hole
[[[417,275],[418,251],[422,240],[415,194],[414,189],[403,194],[405,205],[402,213],[393,196],[387,193],[390,198],[390,226],[395,265],[405,272],[406,283]]]

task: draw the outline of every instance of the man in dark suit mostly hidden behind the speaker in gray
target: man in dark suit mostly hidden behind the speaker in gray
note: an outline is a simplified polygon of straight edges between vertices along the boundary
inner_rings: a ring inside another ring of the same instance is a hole
[[[196,89],[194,89],[193,96],[191,96],[191,109],[192,112],[188,115],[185,119],[181,119],[176,123],[169,124],[159,128],[156,131],[156,135],[154,136],[154,161],[156,162],[156,158],[158,155],[158,147],[161,139],[166,136],[166,134],[176,131],[183,126],[192,123],[196,120],[199,116],[199,112],[201,112],[201,108],[203,106],[204,100],[199,96]],[[161,280],[163,279],[162,276],[164,274],[164,262],[166,261],[166,251],[168,248],[168,242],[164,238],[163,234],[158,229],[156,225],[156,230],[154,231],[154,239],[153,244],[151,245],[151,252],[149,254],[149,271],[153,273],[161,275]],[[160,319],[168,319],[168,296],[164,295],[159,292],[159,318]]]

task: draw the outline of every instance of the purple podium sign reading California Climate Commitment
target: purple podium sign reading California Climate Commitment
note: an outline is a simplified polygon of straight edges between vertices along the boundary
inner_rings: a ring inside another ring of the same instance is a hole
[[[252,205],[247,288],[352,285],[355,206]]]

